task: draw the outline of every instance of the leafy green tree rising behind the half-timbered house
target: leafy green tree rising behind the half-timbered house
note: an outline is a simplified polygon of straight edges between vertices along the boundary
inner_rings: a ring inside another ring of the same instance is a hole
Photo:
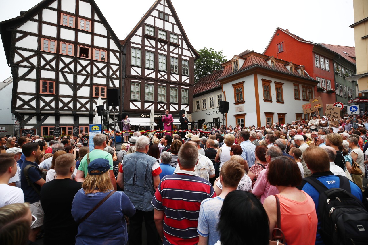
[[[227,59],[221,51],[213,50],[213,48],[197,50],[199,58],[194,62],[194,80],[198,82],[199,79],[211,74],[214,70],[220,70],[221,64]]]

